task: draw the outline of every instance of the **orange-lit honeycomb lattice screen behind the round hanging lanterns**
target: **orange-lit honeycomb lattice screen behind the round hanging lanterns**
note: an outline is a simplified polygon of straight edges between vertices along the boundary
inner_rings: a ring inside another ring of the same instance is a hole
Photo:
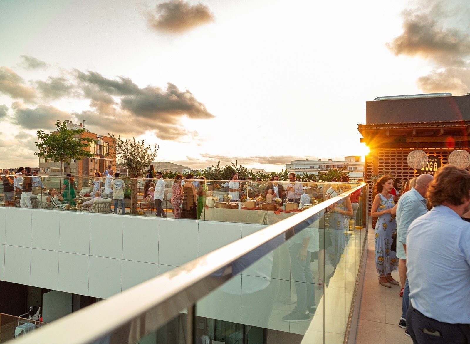
[[[428,156],[438,156],[441,159],[441,164],[447,164],[447,157],[450,151],[446,149],[426,149],[420,148]],[[419,176],[414,168],[411,168],[407,164],[408,153],[413,149],[377,149],[378,163],[379,163],[379,175],[390,174],[394,178],[400,179],[403,183],[414,177]],[[372,156],[366,156],[366,181],[370,183],[372,177]],[[372,205],[372,190],[369,188],[369,211]]]

